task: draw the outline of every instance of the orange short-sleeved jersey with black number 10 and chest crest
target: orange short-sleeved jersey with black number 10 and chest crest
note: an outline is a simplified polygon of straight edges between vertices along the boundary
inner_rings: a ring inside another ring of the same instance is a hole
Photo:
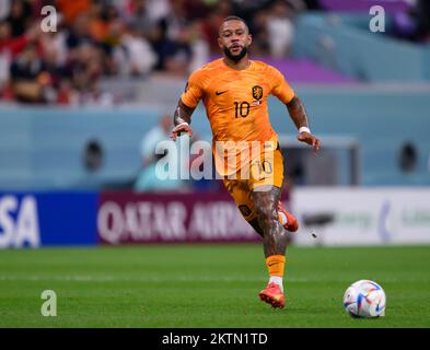
[[[251,60],[248,68],[235,70],[220,58],[191,73],[181,98],[190,108],[202,100],[214,147],[217,141],[276,142],[267,107],[269,94],[288,103],[294,91],[279,70],[265,62]],[[242,149],[237,148],[237,154]],[[237,170],[243,165],[239,162]]]

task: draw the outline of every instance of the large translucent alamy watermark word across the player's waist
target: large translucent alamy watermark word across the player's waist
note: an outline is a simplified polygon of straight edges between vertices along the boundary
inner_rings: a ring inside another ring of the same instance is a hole
[[[240,178],[270,184],[276,149],[277,142],[274,141],[217,141],[210,144],[200,140],[190,144],[189,137],[179,137],[176,142],[158,143],[155,175],[160,180]]]

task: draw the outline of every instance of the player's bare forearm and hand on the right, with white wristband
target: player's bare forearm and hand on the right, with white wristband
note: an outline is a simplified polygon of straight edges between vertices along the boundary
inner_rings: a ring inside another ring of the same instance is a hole
[[[319,140],[311,133],[307,121],[306,109],[299,96],[294,95],[290,102],[286,104],[288,113],[295,127],[299,130],[298,140],[312,145],[315,152],[319,151]]]

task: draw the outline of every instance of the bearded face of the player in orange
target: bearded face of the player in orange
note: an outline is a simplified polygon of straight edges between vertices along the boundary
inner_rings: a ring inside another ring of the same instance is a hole
[[[218,44],[225,56],[232,60],[242,59],[251,43],[251,35],[242,21],[228,21],[221,25]]]

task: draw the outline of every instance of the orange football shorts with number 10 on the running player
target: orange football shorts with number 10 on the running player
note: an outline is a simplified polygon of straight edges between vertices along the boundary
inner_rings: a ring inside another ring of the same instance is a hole
[[[224,177],[224,186],[233,197],[239,210],[246,221],[257,217],[253,191],[267,190],[268,187],[282,188],[283,182],[283,156],[279,148],[270,156],[264,156],[251,163],[249,175],[235,174],[235,178]]]

